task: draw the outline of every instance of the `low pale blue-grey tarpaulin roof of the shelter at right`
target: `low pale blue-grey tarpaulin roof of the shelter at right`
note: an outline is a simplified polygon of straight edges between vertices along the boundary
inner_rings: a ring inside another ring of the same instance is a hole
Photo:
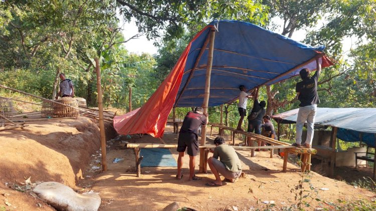
[[[299,109],[276,114],[279,123],[296,123]],[[376,108],[317,108],[316,126],[337,127],[337,138],[357,142],[361,139],[370,146],[376,142]]]

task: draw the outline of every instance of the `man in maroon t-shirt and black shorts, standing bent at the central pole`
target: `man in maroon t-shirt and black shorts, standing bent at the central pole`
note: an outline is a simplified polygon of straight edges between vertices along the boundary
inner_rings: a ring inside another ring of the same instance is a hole
[[[197,107],[195,112],[188,112],[183,120],[179,131],[179,139],[177,141],[177,151],[179,156],[177,158],[177,174],[176,179],[180,180],[183,177],[181,167],[183,165],[182,157],[185,149],[188,148],[188,155],[190,156],[190,177],[189,180],[200,180],[201,178],[195,175],[196,155],[199,151],[198,132],[203,124],[207,124],[208,115],[204,115],[204,109]]]

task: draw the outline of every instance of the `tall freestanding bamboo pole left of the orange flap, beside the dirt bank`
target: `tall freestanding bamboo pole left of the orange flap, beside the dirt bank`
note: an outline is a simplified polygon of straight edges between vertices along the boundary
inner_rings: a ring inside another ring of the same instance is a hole
[[[101,147],[102,147],[102,170],[103,171],[107,171],[106,135],[104,133],[104,122],[103,122],[103,101],[102,101],[102,86],[101,86],[101,69],[100,69],[99,59],[95,58],[94,60],[95,60],[95,71],[97,72],[99,129],[100,129]]]

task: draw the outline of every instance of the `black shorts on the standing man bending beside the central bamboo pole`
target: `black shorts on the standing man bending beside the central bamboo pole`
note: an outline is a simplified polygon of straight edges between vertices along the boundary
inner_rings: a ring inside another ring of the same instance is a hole
[[[190,156],[197,155],[197,152],[199,151],[199,142],[195,133],[179,133],[176,151],[184,152],[187,147]]]

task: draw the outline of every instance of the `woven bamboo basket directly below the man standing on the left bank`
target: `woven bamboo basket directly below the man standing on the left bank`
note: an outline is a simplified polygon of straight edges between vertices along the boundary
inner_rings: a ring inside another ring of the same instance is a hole
[[[74,108],[78,108],[77,101],[74,98],[71,97],[63,97],[55,100],[56,102],[62,103],[64,105],[69,105]],[[52,117],[78,117],[80,116],[80,112],[77,109],[74,109],[72,107],[64,106],[61,104],[53,103],[52,109],[53,114]]]

